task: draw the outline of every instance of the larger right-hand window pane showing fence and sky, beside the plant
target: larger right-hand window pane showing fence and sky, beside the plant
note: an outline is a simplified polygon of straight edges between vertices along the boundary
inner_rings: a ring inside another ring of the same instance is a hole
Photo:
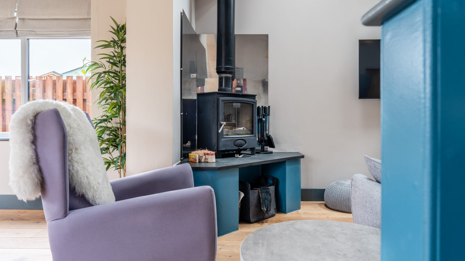
[[[90,92],[82,70],[90,39],[29,39],[29,100],[66,101],[90,114]]]

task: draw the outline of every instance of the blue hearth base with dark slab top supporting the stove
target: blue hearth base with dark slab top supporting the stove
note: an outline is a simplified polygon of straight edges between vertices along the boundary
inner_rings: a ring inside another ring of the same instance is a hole
[[[286,153],[286,152],[280,152]],[[289,152],[296,153],[296,152]],[[277,153],[273,153],[277,154]],[[254,182],[257,176],[278,178],[276,207],[278,212],[289,213],[300,209],[300,158],[283,158],[283,161],[256,161],[246,166],[226,170],[198,170],[213,163],[193,163],[195,186],[211,186],[215,191],[218,236],[239,229],[239,180]],[[274,155],[276,158],[277,155]],[[260,155],[260,158],[266,158]],[[217,159],[221,161],[223,159]],[[263,164],[262,164],[263,163]],[[203,165],[203,166],[202,166]]]

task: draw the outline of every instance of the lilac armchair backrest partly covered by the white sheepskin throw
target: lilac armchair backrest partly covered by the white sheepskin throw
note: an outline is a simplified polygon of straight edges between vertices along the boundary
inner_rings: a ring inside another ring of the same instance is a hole
[[[87,118],[90,121],[88,115]],[[69,187],[68,137],[60,112],[50,109],[38,113],[33,131],[37,164],[42,174],[40,194],[46,221],[64,218],[69,210],[92,206]]]

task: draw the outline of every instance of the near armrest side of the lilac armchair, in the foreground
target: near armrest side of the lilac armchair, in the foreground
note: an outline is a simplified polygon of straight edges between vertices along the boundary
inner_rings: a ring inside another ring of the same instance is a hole
[[[53,260],[216,258],[215,196],[208,186],[72,210],[47,228]]]

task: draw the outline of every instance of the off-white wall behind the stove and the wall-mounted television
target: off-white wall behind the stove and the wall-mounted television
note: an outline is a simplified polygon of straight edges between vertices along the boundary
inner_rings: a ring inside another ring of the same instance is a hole
[[[216,33],[216,0],[196,0],[197,33]],[[360,23],[378,0],[236,0],[236,34],[268,34],[271,135],[298,150],[302,187],[326,188],[380,158],[380,100],[358,99],[358,39],[379,39]],[[371,176],[370,176],[371,177]]]

